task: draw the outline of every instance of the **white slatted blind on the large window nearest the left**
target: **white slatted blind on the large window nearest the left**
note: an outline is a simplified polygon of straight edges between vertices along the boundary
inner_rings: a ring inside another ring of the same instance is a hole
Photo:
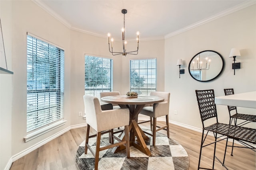
[[[27,35],[27,132],[63,119],[64,50]]]

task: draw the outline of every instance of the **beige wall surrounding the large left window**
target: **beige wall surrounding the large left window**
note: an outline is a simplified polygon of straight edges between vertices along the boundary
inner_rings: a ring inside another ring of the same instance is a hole
[[[24,143],[26,137],[27,32],[65,50],[64,119],[66,124]],[[32,1],[12,1],[12,156],[70,127],[70,29]]]

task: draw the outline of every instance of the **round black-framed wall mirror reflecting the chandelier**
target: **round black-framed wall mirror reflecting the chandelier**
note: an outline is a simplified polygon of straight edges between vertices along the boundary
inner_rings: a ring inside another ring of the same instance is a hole
[[[197,53],[188,65],[188,72],[192,78],[207,82],[217,78],[223,71],[224,59],[220,53],[212,50]]]

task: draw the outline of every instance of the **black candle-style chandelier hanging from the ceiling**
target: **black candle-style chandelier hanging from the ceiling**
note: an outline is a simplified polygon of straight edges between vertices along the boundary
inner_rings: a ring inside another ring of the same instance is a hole
[[[127,10],[123,9],[122,10],[122,14],[125,14],[127,13]],[[125,22],[125,20],[124,20]],[[137,55],[138,54],[138,49],[139,49],[139,32],[137,32],[137,50],[136,51],[129,51],[129,52],[126,52],[126,47],[127,47],[127,41],[125,41],[125,27],[122,28],[122,45],[123,45],[123,51],[122,52],[113,52],[113,41],[114,39],[111,38],[111,50],[110,50],[110,33],[108,33],[108,49],[109,49],[109,52],[112,53],[112,55],[124,55],[126,56],[127,54],[132,54],[132,55]]]

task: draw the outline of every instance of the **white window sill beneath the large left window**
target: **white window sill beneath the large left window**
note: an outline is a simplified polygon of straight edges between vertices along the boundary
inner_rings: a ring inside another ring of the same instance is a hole
[[[43,135],[44,133],[47,133],[53,129],[56,129],[57,127],[60,127],[62,125],[66,124],[66,120],[58,121],[56,123],[53,123],[52,125],[49,125],[47,127],[44,127],[42,129],[39,129],[38,131],[35,131],[33,133],[28,134],[26,137],[24,137],[24,141],[28,142],[36,137],[39,137],[40,135]]]

